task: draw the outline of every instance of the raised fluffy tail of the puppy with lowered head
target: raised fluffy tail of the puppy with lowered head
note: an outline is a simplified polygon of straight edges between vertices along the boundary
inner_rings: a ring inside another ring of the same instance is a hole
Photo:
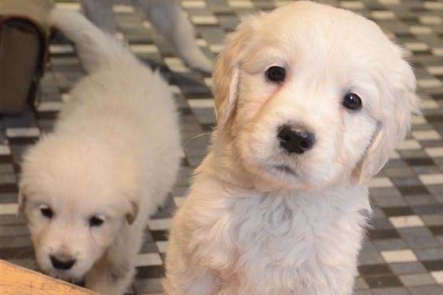
[[[126,46],[98,29],[83,14],[53,9],[49,23],[76,45],[83,68],[88,73],[106,65],[137,62]]]

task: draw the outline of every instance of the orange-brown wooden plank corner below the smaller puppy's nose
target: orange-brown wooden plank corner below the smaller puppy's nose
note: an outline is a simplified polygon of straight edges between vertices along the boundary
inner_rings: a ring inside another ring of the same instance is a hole
[[[1,295],[93,295],[88,289],[0,260]]]

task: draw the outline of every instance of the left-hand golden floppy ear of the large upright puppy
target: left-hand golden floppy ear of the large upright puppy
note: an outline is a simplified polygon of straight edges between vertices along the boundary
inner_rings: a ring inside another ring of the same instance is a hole
[[[239,68],[253,36],[253,27],[260,16],[250,16],[237,31],[231,33],[226,41],[225,48],[215,63],[213,72],[215,93],[215,115],[218,128],[228,121],[233,113],[238,98]]]

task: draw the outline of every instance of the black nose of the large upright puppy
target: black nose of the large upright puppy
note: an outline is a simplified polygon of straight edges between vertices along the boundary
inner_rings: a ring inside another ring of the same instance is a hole
[[[292,130],[288,125],[282,126],[277,136],[280,140],[280,147],[289,153],[302,154],[310,150],[315,143],[315,135],[313,133]]]

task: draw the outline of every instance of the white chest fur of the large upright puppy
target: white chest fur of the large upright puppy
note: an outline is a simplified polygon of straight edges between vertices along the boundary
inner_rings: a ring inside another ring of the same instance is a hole
[[[340,204],[347,197],[277,193],[235,202],[226,214],[237,257],[231,267],[243,280],[238,293],[347,294],[342,280],[355,276],[365,195]]]

